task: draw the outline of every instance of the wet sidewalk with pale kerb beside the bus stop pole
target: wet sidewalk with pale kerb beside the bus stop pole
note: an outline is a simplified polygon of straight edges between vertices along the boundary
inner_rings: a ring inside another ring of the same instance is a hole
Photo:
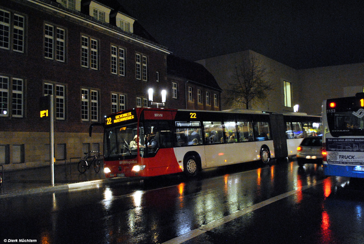
[[[51,186],[50,166],[4,172],[3,187],[0,187],[0,199],[120,180],[119,178],[106,179],[102,165],[99,173],[95,173],[94,168],[90,167],[85,173],[80,174],[77,170],[77,164],[71,164],[71,171],[69,163],[66,165],[55,165],[54,187]]]

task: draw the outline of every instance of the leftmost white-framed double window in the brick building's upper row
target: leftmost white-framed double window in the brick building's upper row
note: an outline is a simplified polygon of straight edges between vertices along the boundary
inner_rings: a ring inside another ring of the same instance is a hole
[[[0,9],[0,48],[24,52],[24,28],[24,16]]]

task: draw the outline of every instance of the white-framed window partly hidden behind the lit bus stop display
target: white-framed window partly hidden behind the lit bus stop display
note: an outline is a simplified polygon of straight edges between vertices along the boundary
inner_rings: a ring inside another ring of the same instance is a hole
[[[56,104],[56,119],[65,119],[65,104],[66,104],[66,90],[64,85],[44,83],[44,96],[54,95],[54,87],[56,88],[56,94],[53,97],[53,103]]]

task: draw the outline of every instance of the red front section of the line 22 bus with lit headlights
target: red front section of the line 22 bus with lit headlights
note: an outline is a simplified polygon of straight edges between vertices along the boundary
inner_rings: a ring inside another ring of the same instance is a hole
[[[105,176],[157,176],[182,172],[172,143],[175,114],[175,110],[135,108],[107,116]]]

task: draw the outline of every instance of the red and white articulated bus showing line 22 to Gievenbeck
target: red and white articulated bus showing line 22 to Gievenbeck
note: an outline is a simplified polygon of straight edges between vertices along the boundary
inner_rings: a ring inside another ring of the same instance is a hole
[[[92,124],[90,136],[93,126],[103,125],[107,178],[194,176],[205,168],[295,155],[303,137],[319,133],[321,117],[294,114],[133,108]]]

